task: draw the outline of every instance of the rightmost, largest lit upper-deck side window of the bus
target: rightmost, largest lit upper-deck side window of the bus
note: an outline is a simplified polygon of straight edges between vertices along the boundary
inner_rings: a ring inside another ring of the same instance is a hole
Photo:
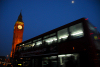
[[[73,38],[79,38],[79,37],[84,36],[82,23],[78,23],[76,25],[69,27],[69,31],[70,31],[71,37]]]

